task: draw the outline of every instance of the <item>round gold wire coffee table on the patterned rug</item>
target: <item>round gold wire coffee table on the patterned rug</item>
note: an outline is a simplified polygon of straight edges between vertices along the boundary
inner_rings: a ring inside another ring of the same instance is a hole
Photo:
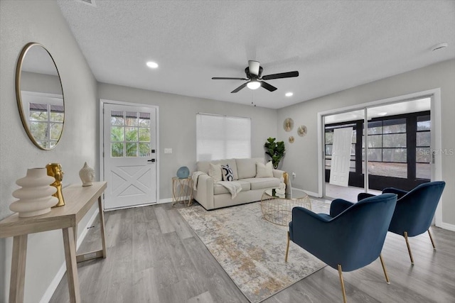
[[[287,197],[279,194],[277,189],[267,189],[261,198],[261,210],[264,219],[273,224],[287,226],[292,221],[292,209],[301,206],[311,209],[311,199],[301,192],[300,197]]]

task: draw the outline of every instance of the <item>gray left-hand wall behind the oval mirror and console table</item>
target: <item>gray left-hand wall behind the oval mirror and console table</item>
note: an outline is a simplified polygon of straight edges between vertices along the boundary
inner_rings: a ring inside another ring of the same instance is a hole
[[[85,161],[97,167],[97,82],[55,1],[0,2],[0,219],[11,214],[15,181],[30,167],[59,162],[63,184],[80,183]],[[50,151],[28,139],[18,114],[15,94],[16,62],[28,42],[47,48],[55,60],[65,94],[65,128]],[[79,231],[90,219],[81,221]],[[7,302],[12,238],[0,239],[0,302]],[[25,302],[38,302],[64,263],[61,231],[28,236]]]

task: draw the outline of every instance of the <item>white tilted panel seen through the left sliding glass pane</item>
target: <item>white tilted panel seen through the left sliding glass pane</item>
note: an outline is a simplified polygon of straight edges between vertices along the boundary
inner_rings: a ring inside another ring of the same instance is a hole
[[[350,146],[353,138],[353,128],[335,128],[333,130],[332,163],[330,184],[348,186]]]

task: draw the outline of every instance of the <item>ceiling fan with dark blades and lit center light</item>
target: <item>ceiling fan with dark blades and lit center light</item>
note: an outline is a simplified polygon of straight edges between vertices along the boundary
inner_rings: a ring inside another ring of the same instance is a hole
[[[299,77],[299,72],[280,72],[279,74],[265,75],[262,76],[262,67],[259,66],[259,62],[249,60],[248,67],[245,68],[246,78],[230,78],[230,77],[213,77],[213,80],[246,80],[244,84],[240,85],[234,89],[231,93],[239,92],[240,89],[248,87],[249,89],[258,89],[259,87],[264,87],[269,92],[274,92],[277,90],[277,87],[268,84],[267,82],[260,80],[271,80],[271,79],[282,79],[282,78],[291,78]]]

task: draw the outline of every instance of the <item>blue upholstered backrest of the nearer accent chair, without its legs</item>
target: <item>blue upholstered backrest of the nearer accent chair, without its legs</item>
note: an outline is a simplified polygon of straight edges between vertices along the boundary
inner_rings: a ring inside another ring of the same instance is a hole
[[[319,236],[297,235],[319,231],[301,228],[293,214],[293,241],[332,268],[337,269],[338,264],[342,265],[343,272],[362,268],[380,255],[396,203],[396,194],[363,199],[328,220],[326,231]]]

